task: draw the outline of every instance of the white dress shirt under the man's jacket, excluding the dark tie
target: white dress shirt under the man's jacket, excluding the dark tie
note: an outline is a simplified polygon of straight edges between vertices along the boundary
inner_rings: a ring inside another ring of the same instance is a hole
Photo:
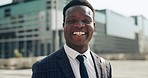
[[[76,50],[68,47],[66,44],[64,45],[64,49],[65,49],[65,52],[68,56],[72,70],[73,70],[76,78],[81,78],[80,71],[79,71],[79,61],[76,59],[76,57],[78,55],[85,55],[86,56],[84,58],[84,64],[86,66],[88,76],[89,76],[89,78],[96,78],[94,63],[93,63],[93,60],[92,60],[92,57],[91,57],[91,54],[90,54],[90,47],[83,54],[80,54]]]

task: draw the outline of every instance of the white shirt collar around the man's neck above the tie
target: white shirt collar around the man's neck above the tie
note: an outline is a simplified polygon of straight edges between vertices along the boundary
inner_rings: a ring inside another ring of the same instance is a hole
[[[80,54],[76,50],[68,47],[66,44],[64,45],[64,49],[65,49],[66,54],[72,59],[75,59],[78,55],[85,55],[86,58],[91,58],[90,47],[88,47],[88,50],[86,52],[84,52],[83,54]]]

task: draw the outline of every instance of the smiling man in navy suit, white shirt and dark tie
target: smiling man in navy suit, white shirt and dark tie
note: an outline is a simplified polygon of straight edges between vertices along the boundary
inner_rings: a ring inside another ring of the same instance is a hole
[[[111,78],[110,63],[89,47],[94,26],[91,4],[86,0],[70,1],[63,9],[66,44],[36,62],[32,68],[32,78]]]

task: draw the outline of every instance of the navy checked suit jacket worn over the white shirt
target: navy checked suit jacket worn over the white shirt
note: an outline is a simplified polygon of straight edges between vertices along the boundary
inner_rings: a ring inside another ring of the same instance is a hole
[[[111,78],[111,65],[91,52],[99,78]],[[62,47],[46,58],[37,61],[32,67],[32,78],[75,78],[69,59]]]

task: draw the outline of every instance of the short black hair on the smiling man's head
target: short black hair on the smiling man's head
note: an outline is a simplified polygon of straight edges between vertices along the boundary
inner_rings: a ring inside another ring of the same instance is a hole
[[[83,5],[83,6],[87,6],[89,7],[92,12],[93,12],[93,15],[95,14],[95,10],[94,8],[92,7],[92,5],[87,1],[87,0],[71,0],[64,8],[63,8],[63,22],[65,21],[65,13],[66,13],[66,10],[72,6],[76,6],[76,5]],[[93,17],[94,18],[94,17]]]

